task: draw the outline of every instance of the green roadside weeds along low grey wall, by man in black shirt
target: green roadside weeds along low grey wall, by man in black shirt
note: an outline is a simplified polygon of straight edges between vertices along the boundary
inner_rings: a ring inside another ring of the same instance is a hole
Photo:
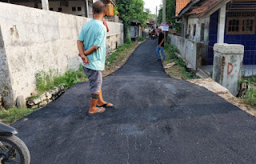
[[[166,66],[169,63],[174,62],[175,65],[171,66],[166,70],[166,74],[169,74],[172,78],[180,78],[180,79],[195,79],[199,78],[198,76],[191,73],[186,69],[186,64],[183,62],[183,59],[176,56],[175,53],[178,53],[178,48],[176,46],[170,46],[165,44],[165,52],[166,52],[166,60],[162,63],[163,66]]]

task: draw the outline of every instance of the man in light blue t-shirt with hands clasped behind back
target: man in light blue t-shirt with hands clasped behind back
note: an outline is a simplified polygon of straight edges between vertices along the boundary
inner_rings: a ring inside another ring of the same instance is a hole
[[[114,107],[102,98],[102,70],[105,69],[106,59],[106,26],[102,23],[106,14],[105,5],[94,2],[93,14],[94,18],[82,26],[77,42],[83,70],[90,81],[90,115],[103,113],[106,107]]]

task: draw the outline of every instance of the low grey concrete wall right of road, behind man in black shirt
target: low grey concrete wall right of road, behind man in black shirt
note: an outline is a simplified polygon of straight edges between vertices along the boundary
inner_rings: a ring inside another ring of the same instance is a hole
[[[190,39],[182,38],[174,34],[169,34],[170,42],[172,45],[177,46],[182,57],[190,63],[191,66],[196,70],[198,64],[200,64],[200,54],[198,53],[199,43],[191,41]]]

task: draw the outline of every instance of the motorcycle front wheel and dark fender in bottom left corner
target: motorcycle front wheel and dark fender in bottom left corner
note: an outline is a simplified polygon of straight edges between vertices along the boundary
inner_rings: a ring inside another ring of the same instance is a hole
[[[30,164],[30,151],[11,126],[0,122],[0,164]]]

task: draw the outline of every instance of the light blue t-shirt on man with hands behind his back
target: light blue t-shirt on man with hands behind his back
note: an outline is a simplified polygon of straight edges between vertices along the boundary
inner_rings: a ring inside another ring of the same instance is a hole
[[[98,46],[93,54],[89,54],[88,58],[90,65],[82,66],[91,70],[104,70],[106,60],[106,26],[99,20],[92,19],[82,26],[78,40],[84,44],[84,50],[89,50],[92,46]]]

